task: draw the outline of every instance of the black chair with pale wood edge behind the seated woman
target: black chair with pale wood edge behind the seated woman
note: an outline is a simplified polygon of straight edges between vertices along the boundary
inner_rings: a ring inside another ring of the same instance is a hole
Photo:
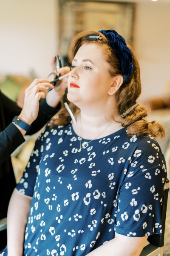
[[[161,223],[162,223],[162,234],[154,234],[152,236],[148,236],[147,244],[143,248],[140,256],[163,256],[164,250],[164,231],[165,231],[165,220],[167,213],[167,198],[169,191],[169,180],[166,180],[164,197],[161,207]]]

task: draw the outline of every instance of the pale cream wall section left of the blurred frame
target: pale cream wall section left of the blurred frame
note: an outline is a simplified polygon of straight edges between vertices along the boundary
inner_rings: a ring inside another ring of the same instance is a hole
[[[0,73],[48,76],[56,37],[56,0],[0,0]]]

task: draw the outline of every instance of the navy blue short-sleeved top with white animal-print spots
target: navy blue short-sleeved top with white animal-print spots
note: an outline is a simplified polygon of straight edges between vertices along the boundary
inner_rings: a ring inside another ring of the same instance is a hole
[[[17,189],[32,197],[24,255],[88,254],[115,236],[161,233],[167,176],[151,136],[125,128],[102,139],[82,139],[72,124],[46,126]],[[57,254],[58,253],[58,254]]]

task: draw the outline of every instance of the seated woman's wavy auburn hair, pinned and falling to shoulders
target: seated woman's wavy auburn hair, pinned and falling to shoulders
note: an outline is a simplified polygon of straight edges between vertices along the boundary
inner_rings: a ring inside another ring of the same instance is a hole
[[[86,35],[100,35],[102,40],[88,40]],[[105,54],[106,61],[110,64],[110,75],[122,75],[120,72],[120,62],[117,59],[112,47],[108,44],[108,39],[100,32],[96,31],[83,31],[80,32],[71,41],[68,50],[68,58],[70,63],[76,55],[78,49],[83,44],[98,44],[102,48]],[[141,94],[141,79],[140,79],[140,67],[133,52],[132,47],[127,45],[133,54],[133,73],[131,74],[131,80],[129,83],[123,83],[116,93],[116,108],[119,115],[125,113],[130,107],[136,104],[136,100]],[[73,103],[69,104],[71,111],[76,115],[79,108]],[[127,128],[129,136],[132,135],[147,135],[150,134],[153,137],[164,137],[164,127],[161,123],[156,121],[147,121],[145,117],[150,113],[150,109],[142,105],[137,105],[133,108],[121,121],[121,125]],[[114,113],[113,113],[114,118]],[[70,122],[70,115],[66,108],[63,106],[60,111],[52,118],[51,126],[53,125],[67,125]]]

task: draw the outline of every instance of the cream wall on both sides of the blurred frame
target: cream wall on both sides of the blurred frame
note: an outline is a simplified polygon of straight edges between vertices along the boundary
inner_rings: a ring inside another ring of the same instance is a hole
[[[57,0],[0,0],[0,74],[38,77],[57,53]],[[134,50],[141,66],[141,100],[170,92],[170,1],[136,5]],[[167,90],[167,89],[166,89]]]

